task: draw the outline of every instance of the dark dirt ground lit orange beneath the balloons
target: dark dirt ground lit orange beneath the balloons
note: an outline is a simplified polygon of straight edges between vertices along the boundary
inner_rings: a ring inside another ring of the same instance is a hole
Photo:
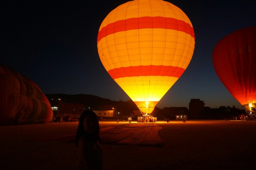
[[[0,126],[0,169],[76,169],[78,122]],[[103,168],[255,169],[256,121],[100,120]]]

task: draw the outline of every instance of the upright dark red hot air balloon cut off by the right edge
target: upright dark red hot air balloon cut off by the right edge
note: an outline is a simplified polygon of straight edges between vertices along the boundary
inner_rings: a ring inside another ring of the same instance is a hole
[[[239,29],[222,38],[214,47],[215,71],[234,98],[255,115],[256,27]]]

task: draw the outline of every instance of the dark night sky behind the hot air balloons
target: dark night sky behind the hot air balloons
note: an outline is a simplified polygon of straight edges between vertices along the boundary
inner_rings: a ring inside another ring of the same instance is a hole
[[[101,22],[128,0],[10,1],[0,5],[0,64],[33,80],[45,94],[90,94],[130,99],[108,75],[97,50]],[[238,29],[256,26],[255,0],[168,0],[182,9],[195,31],[192,60],[157,107],[242,105],[219,80],[212,63],[217,42]],[[1,82],[2,83],[2,82]]]

